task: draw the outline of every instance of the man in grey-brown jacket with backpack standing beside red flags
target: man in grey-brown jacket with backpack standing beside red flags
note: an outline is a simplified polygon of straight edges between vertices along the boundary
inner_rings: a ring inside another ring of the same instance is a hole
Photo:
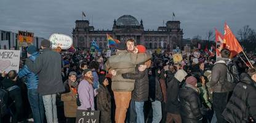
[[[230,50],[222,49],[220,51],[222,58],[218,58],[212,68],[212,77],[207,86],[212,91],[212,106],[214,108],[217,122],[226,122],[222,117],[222,112],[228,103],[229,94],[233,90],[234,85],[227,81],[226,62],[229,61]]]

